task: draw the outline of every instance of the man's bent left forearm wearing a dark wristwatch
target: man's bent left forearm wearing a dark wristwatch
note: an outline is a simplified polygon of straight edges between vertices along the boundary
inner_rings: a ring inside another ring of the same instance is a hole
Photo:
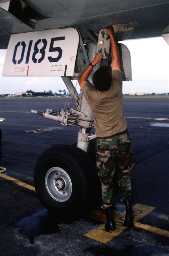
[[[96,54],[94,56],[94,60],[91,62],[91,64],[93,65],[89,65],[82,73],[82,75],[79,77],[78,79],[78,82],[79,82],[79,85],[82,89],[83,85],[86,84],[87,82],[87,79],[93,69],[94,66],[96,66],[97,63],[101,62],[102,60],[102,57],[103,57],[103,54],[99,57],[98,54]]]

